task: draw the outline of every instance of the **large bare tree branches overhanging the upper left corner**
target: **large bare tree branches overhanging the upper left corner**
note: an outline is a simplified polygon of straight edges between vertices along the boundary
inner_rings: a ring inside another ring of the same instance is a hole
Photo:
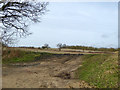
[[[11,44],[19,37],[26,37],[31,33],[28,25],[31,22],[40,22],[45,14],[48,2],[10,2],[0,0],[0,28],[1,39],[4,44]]]

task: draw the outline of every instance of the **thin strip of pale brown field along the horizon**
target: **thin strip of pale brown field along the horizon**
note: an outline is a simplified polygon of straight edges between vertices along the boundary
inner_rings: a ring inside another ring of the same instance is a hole
[[[55,53],[55,54],[101,54],[101,53],[114,53],[114,52],[104,52],[104,51],[93,51],[93,50],[81,50],[81,49],[61,49],[59,51],[57,48],[49,48],[49,49],[38,49],[38,48],[13,48],[9,49],[15,50],[23,50],[23,51],[32,51],[32,52],[47,52],[47,53]]]

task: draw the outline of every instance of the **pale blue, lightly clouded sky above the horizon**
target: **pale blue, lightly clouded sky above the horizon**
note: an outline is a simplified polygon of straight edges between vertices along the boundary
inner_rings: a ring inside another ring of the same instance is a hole
[[[41,47],[45,43],[118,47],[118,3],[50,2],[41,23],[29,26],[33,34],[16,46]]]

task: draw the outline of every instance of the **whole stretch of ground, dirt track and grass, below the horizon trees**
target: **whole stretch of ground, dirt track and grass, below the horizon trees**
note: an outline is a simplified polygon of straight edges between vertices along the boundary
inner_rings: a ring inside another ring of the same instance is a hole
[[[118,87],[118,52],[9,48],[2,68],[3,88]]]

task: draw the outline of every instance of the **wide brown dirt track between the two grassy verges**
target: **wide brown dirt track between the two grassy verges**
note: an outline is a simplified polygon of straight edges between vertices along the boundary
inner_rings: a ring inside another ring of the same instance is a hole
[[[3,88],[91,88],[74,77],[81,55],[53,55],[37,62],[3,66]]]

